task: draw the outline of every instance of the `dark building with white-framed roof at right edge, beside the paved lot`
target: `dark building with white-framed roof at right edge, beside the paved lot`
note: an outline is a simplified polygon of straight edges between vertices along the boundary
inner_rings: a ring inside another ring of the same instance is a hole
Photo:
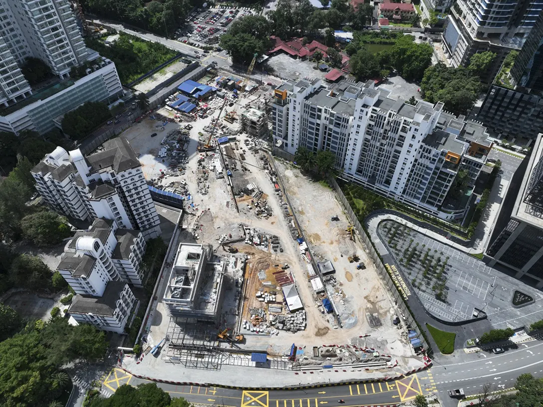
[[[502,205],[487,255],[543,287],[543,134],[535,140],[515,203]],[[509,196],[504,202],[507,202]],[[503,212],[503,213],[502,213]]]

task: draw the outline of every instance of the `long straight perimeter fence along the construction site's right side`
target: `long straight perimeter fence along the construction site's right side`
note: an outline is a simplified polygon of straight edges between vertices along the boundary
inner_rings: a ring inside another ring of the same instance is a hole
[[[362,245],[364,246],[364,251],[368,254],[369,258],[373,261],[375,265],[375,270],[377,270],[377,273],[383,280],[384,284],[387,286],[390,293],[392,293],[392,297],[394,298],[394,302],[402,312],[402,316],[405,318],[406,324],[411,326],[411,329],[415,330],[418,334],[419,339],[422,342],[422,346],[429,350],[430,345],[426,342],[426,339],[422,332],[420,331],[418,325],[416,324],[415,318],[411,314],[411,310],[407,307],[407,304],[405,303],[403,297],[402,297],[402,291],[400,287],[396,286],[395,281],[393,280],[392,275],[387,272],[387,268],[384,266],[379,254],[377,253],[374,245],[371,242],[370,237],[362,227],[362,224],[358,221],[358,218],[355,214],[355,211],[352,210],[351,205],[349,204],[349,201],[347,201],[347,198],[343,194],[343,191],[339,187],[338,183],[334,178],[330,178],[330,184],[332,186],[332,189],[336,192],[336,195],[338,197],[339,202],[341,202],[345,208],[345,213],[347,214],[349,221],[351,222],[351,225],[355,228],[355,230],[358,232],[358,235],[360,236]]]

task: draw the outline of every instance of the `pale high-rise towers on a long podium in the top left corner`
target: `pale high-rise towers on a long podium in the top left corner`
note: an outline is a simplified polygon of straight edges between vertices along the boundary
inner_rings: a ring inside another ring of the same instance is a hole
[[[56,80],[30,86],[27,58],[48,65]],[[87,64],[83,77],[72,67]],[[86,48],[67,0],[4,0],[0,4],[0,131],[44,134],[54,118],[81,103],[112,103],[123,95],[115,64]]]

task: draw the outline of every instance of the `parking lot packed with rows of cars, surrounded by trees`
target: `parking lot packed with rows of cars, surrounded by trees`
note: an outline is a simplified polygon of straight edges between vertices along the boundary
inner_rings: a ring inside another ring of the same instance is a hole
[[[199,10],[199,9],[198,9]],[[186,20],[186,26],[176,30],[178,41],[199,46],[218,46],[220,36],[237,18],[256,14],[249,7],[212,8],[194,11]]]

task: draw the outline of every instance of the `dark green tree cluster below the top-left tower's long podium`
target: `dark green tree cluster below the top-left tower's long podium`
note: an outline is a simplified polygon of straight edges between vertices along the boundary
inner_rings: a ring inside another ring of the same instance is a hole
[[[108,105],[103,102],[86,102],[64,115],[62,131],[75,140],[81,140],[109,118],[111,112]]]

